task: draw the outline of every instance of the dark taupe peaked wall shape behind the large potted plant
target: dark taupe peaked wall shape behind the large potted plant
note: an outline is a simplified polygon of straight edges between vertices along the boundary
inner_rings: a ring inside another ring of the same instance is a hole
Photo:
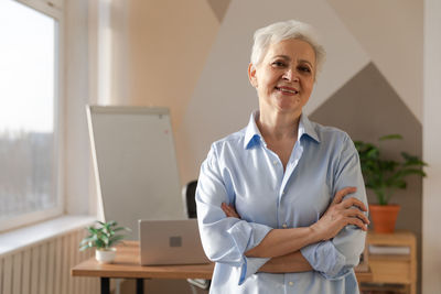
[[[404,140],[380,143],[381,154],[398,161],[401,161],[399,155],[401,151],[422,157],[421,123],[373,63],[356,74],[309,117],[321,124],[345,130],[353,140],[376,144],[380,135],[399,133]],[[369,190],[367,193],[368,202],[377,203],[375,195]],[[407,189],[397,190],[391,203],[401,206],[397,228],[411,230],[417,235],[418,260],[421,260],[421,178],[410,176]],[[418,272],[421,272],[420,269]]]

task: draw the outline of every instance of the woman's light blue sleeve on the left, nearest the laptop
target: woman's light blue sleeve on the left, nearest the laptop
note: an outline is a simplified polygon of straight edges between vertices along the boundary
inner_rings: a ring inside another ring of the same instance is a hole
[[[244,253],[258,246],[272,228],[226,217],[220,205],[234,203],[235,196],[225,182],[213,145],[201,166],[196,189],[202,244],[209,260],[240,268],[238,284],[241,284],[269,260],[248,258]]]

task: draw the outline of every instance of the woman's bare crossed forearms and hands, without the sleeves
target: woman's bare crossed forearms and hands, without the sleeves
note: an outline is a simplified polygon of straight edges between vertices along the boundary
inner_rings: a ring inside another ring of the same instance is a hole
[[[270,258],[259,271],[270,273],[304,272],[312,266],[300,249],[319,241],[334,238],[345,226],[354,225],[366,231],[369,224],[363,211],[367,211],[363,202],[346,195],[355,193],[355,187],[338,190],[320,220],[310,227],[272,229],[255,248],[245,252],[250,258]],[[227,217],[240,218],[233,206],[225,203],[222,209]]]

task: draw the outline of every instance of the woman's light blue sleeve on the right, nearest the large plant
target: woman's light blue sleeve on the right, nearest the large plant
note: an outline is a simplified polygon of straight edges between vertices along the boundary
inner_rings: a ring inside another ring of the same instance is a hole
[[[354,143],[345,135],[341,155],[333,170],[333,195],[344,187],[355,186],[357,192],[346,197],[355,197],[367,207],[366,190],[362,176],[358,153]],[[365,213],[367,215],[367,213]],[[310,244],[301,249],[311,266],[329,280],[340,280],[358,264],[364,250],[366,232],[348,225],[332,240]]]

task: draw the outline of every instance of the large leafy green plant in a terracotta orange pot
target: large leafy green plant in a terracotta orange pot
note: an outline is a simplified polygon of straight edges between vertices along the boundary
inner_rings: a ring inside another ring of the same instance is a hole
[[[386,140],[400,140],[400,134],[384,135],[379,142]],[[401,152],[402,161],[386,160],[380,157],[380,149],[372,143],[355,141],[359,154],[362,173],[367,188],[372,189],[378,200],[369,205],[369,213],[374,222],[375,232],[394,232],[400,206],[389,204],[390,197],[397,189],[405,189],[405,178],[409,175],[426,176],[422,166],[427,165],[418,156]]]

